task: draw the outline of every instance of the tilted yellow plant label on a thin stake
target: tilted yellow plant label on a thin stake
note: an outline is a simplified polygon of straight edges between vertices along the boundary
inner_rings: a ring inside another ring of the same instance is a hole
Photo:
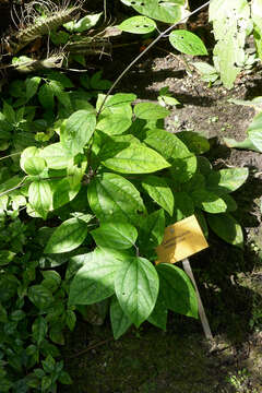
[[[176,263],[207,248],[209,245],[194,215],[169,225],[156,248],[156,263]]]

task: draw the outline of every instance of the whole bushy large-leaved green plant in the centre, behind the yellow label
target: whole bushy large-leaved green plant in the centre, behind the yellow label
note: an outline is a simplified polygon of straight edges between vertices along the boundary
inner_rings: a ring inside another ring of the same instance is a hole
[[[175,265],[154,266],[166,225],[195,213],[206,234],[204,212],[218,236],[242,247],[228,193],[243,183],[248,169],[212,170],[198,157],[209,150],[204,138],[168,133],[162,123],[169,111],[152,103],[132,105],[135,98],[118,93],[102,108],[99,94],[96,108],[88,104],[60,120],[58,141],[26,147],[20,158],[26,182],[17,190],[27,213],[62,219],[45,254],[78,254],[81,245],[90,245],[87,253],[70,259],[75,275],[69,303],[111,297],[115,337],[145,320],[165,329],[168,309],[198,317],[187,275]]]

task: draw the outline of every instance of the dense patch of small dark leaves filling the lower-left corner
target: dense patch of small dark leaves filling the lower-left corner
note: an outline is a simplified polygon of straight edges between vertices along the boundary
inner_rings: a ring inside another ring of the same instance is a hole
[[[71,383],[57,345],[66,325],[74,326],[74,308],[60,274],[39,270],[34,224],[1,216],[1,392],[55,392],[57,382]]]

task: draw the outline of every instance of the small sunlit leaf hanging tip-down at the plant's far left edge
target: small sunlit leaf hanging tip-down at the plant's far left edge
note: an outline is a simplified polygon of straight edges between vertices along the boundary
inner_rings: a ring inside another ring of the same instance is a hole
[[[52,192],[48,181],[33,181],[28,189],[28,201],[36,213],[45,219],[52,205]]]

